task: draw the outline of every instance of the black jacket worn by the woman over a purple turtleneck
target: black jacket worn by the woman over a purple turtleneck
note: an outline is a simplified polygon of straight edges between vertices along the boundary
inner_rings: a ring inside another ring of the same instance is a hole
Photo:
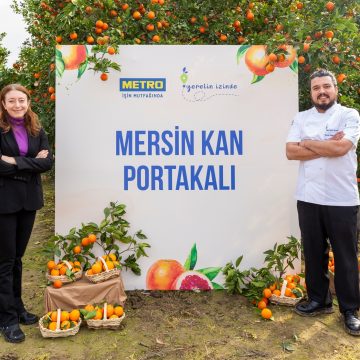
[[[52,167],[52,154],[45,131],[37,136],[28,135],[28,153],[20,156],[12,130],[0,129],[0,155],[16,159],[16,165],[0,160],[0,214],[21,209],[38,210],[44,205],[40,174]],[[45,159],[35,159],[41,150],[49,150]]]

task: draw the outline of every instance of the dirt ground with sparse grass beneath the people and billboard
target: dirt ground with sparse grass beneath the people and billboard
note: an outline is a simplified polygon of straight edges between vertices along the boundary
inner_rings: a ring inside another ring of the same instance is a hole
[[[41,250],[54,231],[54,191],[45,182],[46,207],[24,258],[24,300],[44,313],[46,287]],[[73,337],[44,339],[37,325],[23,326],[26,341],[0,337],[0,360],[83,359],[360,359],[360,338],[347,335],[334,314],[303,318],[291,308],[272,306],[274,321],[260,319],[241,296],[225,291],[130,291],[119,330],[82,327]]]

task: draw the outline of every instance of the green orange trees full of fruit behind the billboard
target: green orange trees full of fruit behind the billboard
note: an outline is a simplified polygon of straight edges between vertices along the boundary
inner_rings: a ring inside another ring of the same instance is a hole
[[[300,109],[311,105],[307,79],[318,67],[337,75],[340,102],[359,108],[358,0],[14,0],[13,8],[31,40],[12,69],[0,69],[0,86],[19,81],[31,89],[51,140],[56,44],[95,45],[88,67],[104,81],[109,69],[120,70],[111,55],[123,44],[265,44],[274,64],[286,60],[292,46]]]

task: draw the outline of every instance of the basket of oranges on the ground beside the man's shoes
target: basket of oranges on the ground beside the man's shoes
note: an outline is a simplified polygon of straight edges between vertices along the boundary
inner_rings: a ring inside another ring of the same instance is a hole
[[[304,297],[299,275],[287,275],[281,289],[272,284],[268,290],[271,292],[270,302],[276,305],[295,306]]]

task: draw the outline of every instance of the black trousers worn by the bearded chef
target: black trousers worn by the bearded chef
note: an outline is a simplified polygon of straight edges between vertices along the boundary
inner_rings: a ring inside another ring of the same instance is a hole
[[[358,206],[326,206],[298,201],[309,298],[329,303],[329,245],[335,259],[335,291],[340,312],[360,306],[356,218]]]

